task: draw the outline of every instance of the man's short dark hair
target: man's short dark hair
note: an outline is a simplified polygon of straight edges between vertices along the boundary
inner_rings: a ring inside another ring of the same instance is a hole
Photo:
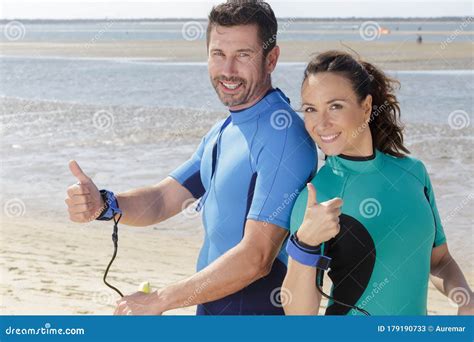
[[[229,0],[212,8],[207,26],[207,46],[214,26],[257,25],[258,36],[267,56],[276,45],[278,23],[269,4],[260,0]]]

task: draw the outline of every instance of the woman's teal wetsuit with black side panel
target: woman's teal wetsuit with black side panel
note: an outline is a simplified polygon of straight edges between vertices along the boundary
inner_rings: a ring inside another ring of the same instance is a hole
[[[341,230],[324,244],[332,258],[331,296],[371,315],[425,315],[433,247],[446,242],[422,162],[378,150],[366,158],[331,156],[312,179],[318,203],[343,199]],[[308,191],[291,217],[301,225]],[[358,315],[329,302],[326,315]]]

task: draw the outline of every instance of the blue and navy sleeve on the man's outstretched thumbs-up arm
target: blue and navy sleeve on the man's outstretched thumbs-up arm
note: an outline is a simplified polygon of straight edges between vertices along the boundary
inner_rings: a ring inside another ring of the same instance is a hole
[[[197,150],[186,162],[170,173],[170,177],[176,179],[182,186],[193,194],[194,198],[200,198],[206,192],[201,181],[201,158],[206,144],[203,137]]]

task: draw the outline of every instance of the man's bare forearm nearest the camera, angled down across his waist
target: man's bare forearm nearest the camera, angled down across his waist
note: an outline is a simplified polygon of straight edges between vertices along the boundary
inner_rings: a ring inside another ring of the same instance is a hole
[[[264,261],[236,246],[193,276],[157,292],[162,311],[211,302],[265,276],[272,261]]]

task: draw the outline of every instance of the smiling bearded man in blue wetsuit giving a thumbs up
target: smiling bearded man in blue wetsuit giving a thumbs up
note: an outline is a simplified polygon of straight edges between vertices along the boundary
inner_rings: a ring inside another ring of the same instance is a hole
[[[191,305],[198,305],[198,315],[284,314],[278,302],[287,261],[282,245],[296,195],[316,169],[316,150],[287,98],[272,88],[276,33],[265,2],[213,8],[209,74],[230,116],[159,184],[116,198],[103,191],[107,203],[117,200],[121,222],[133,226],[166,220],[183,203],[201,198],[205,227],[196,274],[151,294],[125,296],[116,314],[161,314]],[[77,163],[70,168],[80,182],[68,190],[71,219],[96,218],[103,204],[97,187]]]

